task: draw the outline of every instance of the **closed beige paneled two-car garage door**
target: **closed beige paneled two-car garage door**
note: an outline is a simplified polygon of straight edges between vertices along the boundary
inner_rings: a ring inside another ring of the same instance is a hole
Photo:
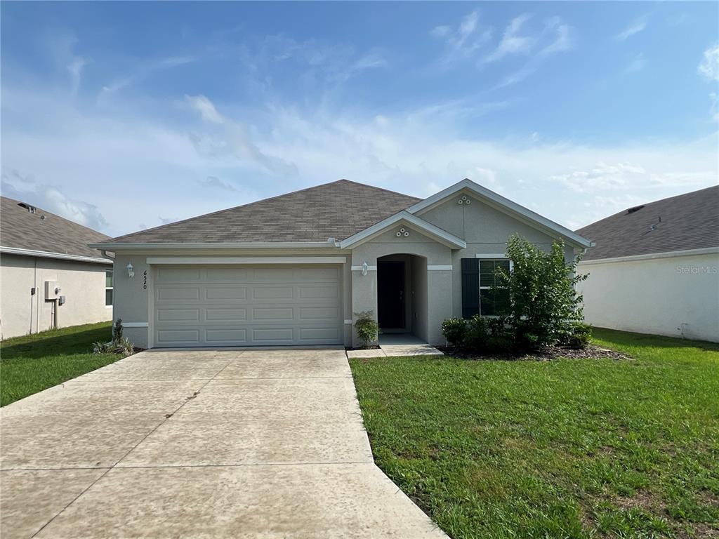
[[[342,344],[339,267],[158,266],[155,346]]]

